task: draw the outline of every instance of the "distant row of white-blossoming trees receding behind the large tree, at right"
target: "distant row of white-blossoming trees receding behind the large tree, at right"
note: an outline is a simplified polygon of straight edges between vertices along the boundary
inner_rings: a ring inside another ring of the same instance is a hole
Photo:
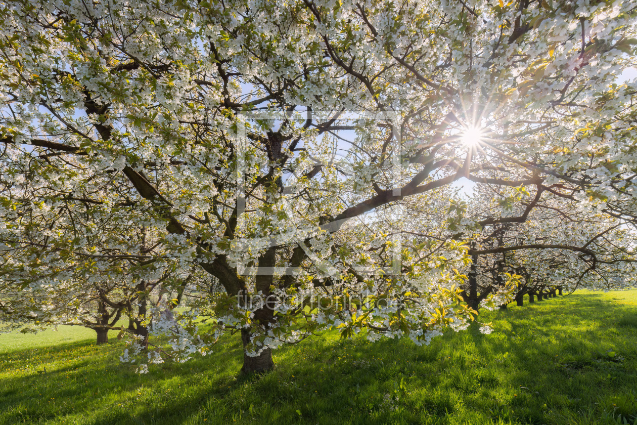
[[[609,290],[634,285],[633,224],[605,213],[582,213],[571,200],[540,191],[510,191],[512,198],[527,201],[511,220],[494,225],[489,224],[485,206],[495,205],[473,199],[468,215],[485,227],[469,236],[471,264],[463,298],[476,310],[490,294],[506,308],[511,301],[522,306],[525,295],[533,302],[578,287]],[[519,275],[516,287],[503,287],[503,272]]]

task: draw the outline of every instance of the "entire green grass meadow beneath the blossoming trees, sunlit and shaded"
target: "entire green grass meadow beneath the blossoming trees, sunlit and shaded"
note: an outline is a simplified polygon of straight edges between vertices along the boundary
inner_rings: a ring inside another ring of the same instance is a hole
[[[429,347],[327,333],[276,350],[276,370],[259,377],[238,375],[238,337],[140,376],[119,363],[119,342],[97,347],[90,331],[0,335],[0,423],[636,421],[637,291],[578,292],[480,319],[496,331],[449,332]]]

